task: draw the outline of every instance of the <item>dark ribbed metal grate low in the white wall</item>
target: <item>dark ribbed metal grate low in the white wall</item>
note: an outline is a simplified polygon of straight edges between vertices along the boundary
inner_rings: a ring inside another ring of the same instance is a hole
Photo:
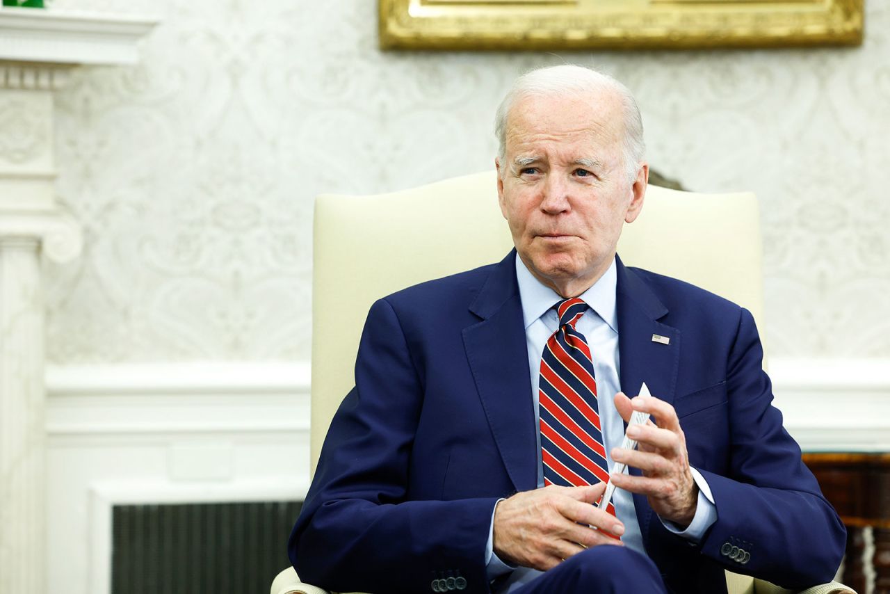
[[[299,501],[118,505],[112,594],[265,594]]]

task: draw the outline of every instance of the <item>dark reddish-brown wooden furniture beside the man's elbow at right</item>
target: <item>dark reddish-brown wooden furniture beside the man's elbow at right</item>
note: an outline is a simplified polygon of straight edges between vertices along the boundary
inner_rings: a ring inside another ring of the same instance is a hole
[[[825,497],[846,525],[843,582],[866,591],[866,566],[875,571],[874,594],[890,594],[890,453],[805,453]],[[875,551],[866,559],[863,530],[871,527]]]

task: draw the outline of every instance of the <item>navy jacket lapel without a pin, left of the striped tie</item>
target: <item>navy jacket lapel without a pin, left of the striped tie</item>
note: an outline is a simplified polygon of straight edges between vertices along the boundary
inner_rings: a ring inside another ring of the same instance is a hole
[[[464,329],[473,371],[491,434],[517,491],[538,486],[535,413],[529,354],[516,282],[515,250],[490,274],[470,311],[481,321]]]

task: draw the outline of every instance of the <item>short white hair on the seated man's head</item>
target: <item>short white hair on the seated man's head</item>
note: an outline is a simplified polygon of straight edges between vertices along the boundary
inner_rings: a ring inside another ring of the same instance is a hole
[[[554,97],[560,95],[583,96],[596,92],[611,91],[618,95],[624,111],[624,142],[622,160],[627,177],[636,178],[646,151],[643,141],[643,117],[634,95],[618,80],[595,69],[574,64],[534,69],[519,77],[498,106],[495,116],[495,135],[498,137],[498,159],[506,155],[506,125],[510,110],[516,102],[528,97]]]

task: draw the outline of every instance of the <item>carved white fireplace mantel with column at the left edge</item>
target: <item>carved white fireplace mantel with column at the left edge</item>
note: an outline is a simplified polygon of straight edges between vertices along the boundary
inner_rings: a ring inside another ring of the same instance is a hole
[[[79,64],[126,65],[154,20],[0,9],[0,592],[46,592],[41,258],[80,253],[55,200],[53,92]]]

